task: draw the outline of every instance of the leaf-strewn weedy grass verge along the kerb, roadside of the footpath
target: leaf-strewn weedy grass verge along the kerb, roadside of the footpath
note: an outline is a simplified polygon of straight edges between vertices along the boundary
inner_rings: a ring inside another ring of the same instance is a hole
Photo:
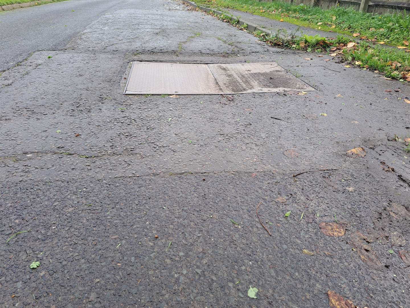
[[[246,25],[239,25],[236,18],[225,14],[217,15],[213,11],[210,11],[209,14],[246,31]],[[410,82],[410,49],[370,46],[366,42],[357,44],[351,38],[342,35],[337,35],[334,39],[327,39],[318,34],[315,36],[306,34],[297,36],[291,33],[284,43],[280,34],[270,35],[262,31],[253,32],[253,35],[258,39],[271,46],[326,53],[330,57],[339,58],[342,62],[351,64],[345,65],[345,67],[357,66],[364,70],[373,70],[385,78]]]

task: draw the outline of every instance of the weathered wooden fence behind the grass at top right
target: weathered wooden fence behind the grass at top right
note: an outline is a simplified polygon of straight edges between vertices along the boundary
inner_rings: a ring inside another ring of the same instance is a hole
[[[273,0],[258,0],[271,2]],[[299,5],[318,6],[323,9],[331,7],[353,7],[356,11],[367,12],[372,14],[410,14],[410,0],[280,0],[282,2]]]

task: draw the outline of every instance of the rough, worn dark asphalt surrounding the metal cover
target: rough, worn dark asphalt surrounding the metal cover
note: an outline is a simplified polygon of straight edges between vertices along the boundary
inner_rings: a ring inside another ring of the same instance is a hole
[[[117,3],[0,77],[0,306],[407,307],[409,87]],[[125,96],[133,60],[276,61],[317,91]]]

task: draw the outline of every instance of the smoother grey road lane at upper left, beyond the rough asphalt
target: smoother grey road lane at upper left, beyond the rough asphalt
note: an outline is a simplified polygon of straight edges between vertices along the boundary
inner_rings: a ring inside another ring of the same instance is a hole
[[[25,60],[32,52],[58,50],[98,16],[139,0],[68,0],[0,12],[0,71]]]

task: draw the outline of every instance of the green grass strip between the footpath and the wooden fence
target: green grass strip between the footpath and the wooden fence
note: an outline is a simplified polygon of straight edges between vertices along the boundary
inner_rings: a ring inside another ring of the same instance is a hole
[[[365,36],[367,39],[384,41],[392,46],[403,46],[403,41],[409,41],[410,38],[410,15],[372,15],[360,13],[352,8],[321,9],[306,5],[290,5],[279,1],[196,0],[196,3],[212,8],[237,9],[314,29],[320,27],[323,31],[348,35],[360,33],[359,37]],[[318,23],[322,24],[317,25]]]

